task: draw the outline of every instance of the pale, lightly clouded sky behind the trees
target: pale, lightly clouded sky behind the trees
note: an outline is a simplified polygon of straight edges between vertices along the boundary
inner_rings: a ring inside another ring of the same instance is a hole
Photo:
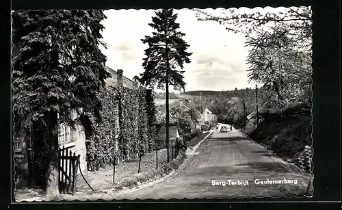
[[[211,10],[219,13],[221,9]],[[246,11],[247,8],[240,8]],[[259,8],[259,11],[272,8]],[[144,71],[142,59],[144,36],[151,36],[153,29],[148,25],[155,10],[105,10],[107,18],[102,22],[103,40],[107,49],[101,51],[107,56],[106,65],[132,79]],[[235,88],[251,88],[255,83],[248,83],[248,65],[246,56],[248,49],[244,47],[243,34],[226,31],[226,26],[215,21],[198,21],[196,12],[189,9],[174,10],[178,14],[176,22],[179,31],[185,33],[183,39],[190,45],[191,64],[185,64],[184,77],[187,85],[185,91],[191,90],[234,90]],[[171,88],[170,92],[174,90]],[[157,90],[163,92],[163,90]]]

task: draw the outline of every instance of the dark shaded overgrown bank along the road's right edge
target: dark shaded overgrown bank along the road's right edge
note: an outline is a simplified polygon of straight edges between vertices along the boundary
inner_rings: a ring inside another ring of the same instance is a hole
[[[263,117],[258,129],[250,129],[253,125],[248,124],[247,134],[277,155],[296,161],[305,146],[313,144],[311,106],[295,105],[283,111],[269,111]]]

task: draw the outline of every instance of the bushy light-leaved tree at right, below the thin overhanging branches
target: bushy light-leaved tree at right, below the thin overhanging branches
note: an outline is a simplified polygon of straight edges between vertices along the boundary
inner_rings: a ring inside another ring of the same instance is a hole
[[[252,47],[247,58],[250,81],[274,92],[269,100],[280,107],[311,100],[311,56],[295,50],[288,33],[287,29],[273,27],[271,31],[257,31],[256,38],[248,36],[246,41],[246,46]]]

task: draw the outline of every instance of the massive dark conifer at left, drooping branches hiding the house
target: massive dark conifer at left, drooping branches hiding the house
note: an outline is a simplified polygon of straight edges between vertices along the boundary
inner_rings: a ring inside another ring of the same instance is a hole
[[[98,49],[106,18],[101,10],[28,10],[12,13],[13,103],[16,131],[47,133],[47,196],[58,196],[57,124],[74,127],[70,112],[97,116],[96,92],[105,85],[106,57]],[[59,116],[59,118],[58,118]]]

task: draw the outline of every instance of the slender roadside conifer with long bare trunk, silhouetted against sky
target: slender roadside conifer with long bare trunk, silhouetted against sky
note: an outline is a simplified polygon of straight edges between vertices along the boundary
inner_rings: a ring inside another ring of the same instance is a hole
[[[169,161],[169,85],[175,90],[185,89],[183,81],[184,63],[190,63],[187,53],[189,44],[183,40],[183,34],[179,31],[179,23],[176,23],[177,14],[172,9],[163,9],[155,12],[150,27],[155,29],[153,36],[145,36],[142,39],[144,44],[148,44],[145,50],[144,73],[138,79],[142,85],[164,90],[166,88],[166,145],[168,148]],[[135,77],[136,79],[137,77]],[[165,85],[164,85],[165,84]]]

